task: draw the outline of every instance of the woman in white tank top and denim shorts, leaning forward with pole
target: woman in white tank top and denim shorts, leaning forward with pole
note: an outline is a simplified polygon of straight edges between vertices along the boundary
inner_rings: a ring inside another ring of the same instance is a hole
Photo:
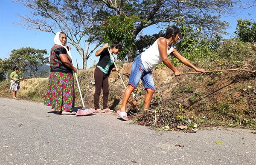
[[[154,69],[157,64],[163,62],[164,65],[166,65],[174,72],[175,76],[180,76],[180,71],[178,71],[177,68],[175,68],[175,66],[170,62],[167,56],[168,53],[172,53],[172,55],[180,60],[181,63],[195,69],[195,71],[205,73],[203,69],[199,69],[192,63],[189,63],[189,61],[182,57],[175,48],[170,47],[170,49],[168,49],[172,43],[177,43],[177,40],[180,36],[179,31],[179,28],[175,26],[169,26],[166,29],[166,34],[164,37],[158,38],[153,43],[153,45],[151,45],[146,51],[134,59],[134,63],[131,67],[131,75],[128,82],[129,86],[125,90],[121,108],[119,111],[117,111],[122,119],[128,121],[128,117],[125,112],[126,104],[129,97],[131,96],[131,93],[139,84],[140,79],[143,82],[144,88],[147,90],[143,108],[149,108],[152,96],[155,91],[151,70]]]

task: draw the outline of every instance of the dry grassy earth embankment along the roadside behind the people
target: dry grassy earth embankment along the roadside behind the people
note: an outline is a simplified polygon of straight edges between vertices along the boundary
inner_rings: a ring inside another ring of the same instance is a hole
[[[205,70],[229,68],[256,69],[256,44],[228,41],[204,61],[192,61]],[[129,64],[120,64],[121,74],[128,82]],[[192,71],[179,66],[181,72]],[[79,71],[84,102],[93,107],[94,68]],[[140,125],[151,125],[160,130],[174,130],[177,125],[189,128],[205,126],[229,126],[256,129],[256,74],[244,71],[218,72],[206,75],[191,74],[174,77],[166,67],[153,71],[156,92],[149,110],[143,111],[145,90],[140,83],[135,90],[134,103],[137,109],[127,110],[133,121]],[[0,85],[6,82],[0,83]],[[43,102],[48,79],[29,79],[20,83],[18,97]],[[124,92],[118,74],[109,78],[109,105],[118,110]],[[0,97],[11,97],[9,85],[0,87]],[[102,104],[102,100],[100,100]],[[76,88],[76,106],[81,106]]]

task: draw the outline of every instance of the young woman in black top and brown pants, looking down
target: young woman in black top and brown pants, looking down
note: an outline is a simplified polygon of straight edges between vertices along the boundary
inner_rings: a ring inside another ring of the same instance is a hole
[[[109,47],[108,44],[105,44],[95,53],[96,56],[99,56],[99,62],[97,63],[94,71],[94,108],[96,110],[96,113],[105,113],[113,111],[108,108],[108,77],[111,71],[118,71],[116,68],[114,68],[114,59],[112,54],[118,54],[121,49],[122,45],[119,43],[119,41],[115,41],[111,47]],[[101,90],[103,90],[103,109],[99,107],[99,96],[101,94]]]

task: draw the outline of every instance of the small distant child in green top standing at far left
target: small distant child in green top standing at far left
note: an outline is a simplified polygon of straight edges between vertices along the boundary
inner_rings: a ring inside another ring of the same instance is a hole
[[[12,67],[13,72],[10,74],[11,86],[10,91],[12,91],[12,98],[18,100],[16,97],[17,91],[20,91],[20,77],[18,75],[19,68],[17,66]]]

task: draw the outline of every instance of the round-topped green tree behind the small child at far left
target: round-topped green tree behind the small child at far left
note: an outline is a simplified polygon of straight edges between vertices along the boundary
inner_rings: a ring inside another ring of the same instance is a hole
[[[30,76],[35,76],[39,66],[49,63],[49,58],[45,57],[46,55],[47,51],[45,49],[26,47],[12,50],[9,60],[17,65],[22,72],[26,71],[27,67],[29,67]]]

